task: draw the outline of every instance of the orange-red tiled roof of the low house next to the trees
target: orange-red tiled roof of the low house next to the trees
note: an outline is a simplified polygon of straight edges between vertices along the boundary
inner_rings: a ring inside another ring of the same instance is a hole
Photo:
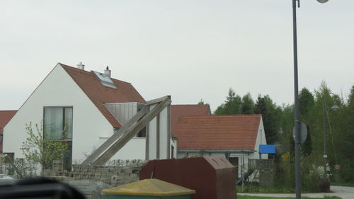
[[[261,115],[180,116],[178,149],[255,149]]]

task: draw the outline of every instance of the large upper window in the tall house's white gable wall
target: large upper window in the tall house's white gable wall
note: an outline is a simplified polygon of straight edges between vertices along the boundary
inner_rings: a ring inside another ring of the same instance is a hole
[[[45,107],[43,130],[45,139],[72,140],[72,107]]]

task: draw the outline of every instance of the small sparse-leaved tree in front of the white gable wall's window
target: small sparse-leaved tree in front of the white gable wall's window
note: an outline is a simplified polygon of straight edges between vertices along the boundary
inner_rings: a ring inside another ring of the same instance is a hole
[[[21,150],[28,161],[40,164],[42,169],[52,168],[53,160],[63,159],[68,152],[68,144],[64,142],[66,128],[62,133],[62,138],[57,140],[48,140],[43,137],[42,124],[35,124],[36,133],[33,132],[32,123],[25,125],[28,134],[23,142]]]

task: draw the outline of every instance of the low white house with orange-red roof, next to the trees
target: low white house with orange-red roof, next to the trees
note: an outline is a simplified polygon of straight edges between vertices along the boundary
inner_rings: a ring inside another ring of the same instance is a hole
[[[239,166],[239,174],[249,159],[268,159],[258,150],[267,144],[262,115],[179,115],[172,135],[178,158],[221,155]]]

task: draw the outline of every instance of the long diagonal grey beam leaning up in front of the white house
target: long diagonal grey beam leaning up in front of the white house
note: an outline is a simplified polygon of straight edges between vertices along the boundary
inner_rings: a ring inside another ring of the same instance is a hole
[[[115,153],[117,153],[127,142],[129,142],[137,133],[142,130],[152,119],[159,115],[167,106],[171,104],[171,97],[165,96],[153,101],[148,101],[147,105],[158,103],[152,110],[144,106],[132,119],[129,120],[118,132],[112,135],[90,157],[81,164],[105,164]]]

